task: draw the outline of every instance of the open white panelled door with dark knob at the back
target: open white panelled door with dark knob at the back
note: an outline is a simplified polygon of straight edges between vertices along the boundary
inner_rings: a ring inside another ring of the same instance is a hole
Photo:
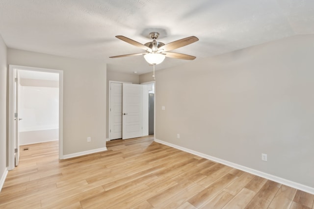
[[[142,136],[142,94],[139,84],[123,84],[122,96],[122,139]]]

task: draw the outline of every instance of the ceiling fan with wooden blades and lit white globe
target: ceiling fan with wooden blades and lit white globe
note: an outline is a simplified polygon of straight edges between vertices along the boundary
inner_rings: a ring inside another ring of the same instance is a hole
[[[177,41],[174,41],[174,42],[171,42],[171,43],[165,45],[162,42],[156,41],[156,39],[159,37],[158,32],[151,32],[149,35],[153,39],[153,41],[148,42],[144,45],[141,43],[138,43],[132,39],[129,39],[125,36],[116,36],[118,39],[120,39],[122,41],[125,41],[125,42],[127,42],[133,46],[137,46],[137,47],[140,47],[141,49],[144,49],[146,52],[112,56],[109,58],[144,55],[145,60],[149,64],[154,65],[154,66],[160,64],[165,59],[165,57],[183,59],[183,60],[194,60],[196,58],[194,56],[187,55],[187,54],[169,52],[173,49],[180,48],[182,46],[186,46],[186,45],[192,44],[194,42],[197,42],[199,39],[195,36],[190,36],[190,37],[180,39],[180,40],[177,40]]]

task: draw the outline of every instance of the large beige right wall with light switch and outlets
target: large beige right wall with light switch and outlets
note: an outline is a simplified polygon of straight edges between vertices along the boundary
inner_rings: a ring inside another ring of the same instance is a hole
[[[157,70],[156,139],[314,187],[313,55],[303,35]]]

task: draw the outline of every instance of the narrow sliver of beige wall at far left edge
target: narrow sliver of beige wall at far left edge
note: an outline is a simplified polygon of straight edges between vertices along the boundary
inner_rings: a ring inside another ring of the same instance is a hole
[[[0,181],[7,166],[7,139],[6,139],[6,60],[7,47],[0,35]],[[4,179],[3,179],[4,181]],[[0,185],[1,190],[1,185]]]

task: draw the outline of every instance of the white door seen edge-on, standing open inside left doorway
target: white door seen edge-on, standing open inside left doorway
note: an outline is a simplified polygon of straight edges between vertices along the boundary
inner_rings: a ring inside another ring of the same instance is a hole
[[[15,152],[15,166],[19,165],[20,160],[20,141],[19,141],[19,72],[14,70],[14,152]]]

